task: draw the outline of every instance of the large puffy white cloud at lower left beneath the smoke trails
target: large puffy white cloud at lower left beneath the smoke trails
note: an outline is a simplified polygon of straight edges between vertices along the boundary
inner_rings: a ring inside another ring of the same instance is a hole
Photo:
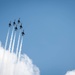
[[[15,63],[17,60],[17,56],[15,53],[10,53],[9,51],[5,50],[3,47],[0,47],[0,67],[1,67],[1,60],[2,60],[2,54],[5,51],[5,60],[2,65],[2,68],[0,69],[0,75],[13,75],[13,68],[15,66],[15,74],[14,75],[40,75],[40,71],[38,67],[36,67],[32,60],[26,55],[22,55],[20,57],[20,61]],[[8,60],[9,57],[9,61]],[[13,57],[13,58],[12,58]]]

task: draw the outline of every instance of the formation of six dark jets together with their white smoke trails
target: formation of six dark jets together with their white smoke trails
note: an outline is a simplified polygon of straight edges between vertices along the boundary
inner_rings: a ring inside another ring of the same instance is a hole
[[[20,60],[20,56],[21,56],[21,51],[22,51],[22,43],[23,43],[23,36],[25,35],[22,23],[20,21],[20,18],[18,20],[14,20],[13,22],[9,22],[8,24],[8,33],[7,33],[7,37],[6,37],[6,42],[5,42],[5,50],[8,47],[8,50],[10,53],[14,53],[14,50],[16,51],[16,56],[17,56],[17,60]],[[13,27],[12,32],[11,32],[11,36],[10,35],[10,28]],[[17,35],[17,31],[20,30],[19,32],[19,36]],[[17,41],[16,41],[16,37],[17,37]],[[9,39],[10,38],[10,39]],[[10,41],[9,41],[10,40]],[[9,46],[8,45],[9,42]],[[17,44],[15,44],[15,42],[17,42]],[[16,46],[15,46],[16,45]],[[16,49],[14,49],[16,48]]]

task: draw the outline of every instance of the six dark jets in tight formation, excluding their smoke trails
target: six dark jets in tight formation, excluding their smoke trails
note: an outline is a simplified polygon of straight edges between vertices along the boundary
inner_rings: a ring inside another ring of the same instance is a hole
[[[14,20],[14,22],[13,22],[13,26],[14,26],[14,29],[15,29],[15,31],[17,31],[18,30],[18,26],[17,25],[19,25],[19,29],[23,29],[23,26],[22,26],[22,23],[21,23],[21,21],[20,21],[20,18],[17,20],[17,22]],[[12,24],[11,24],[11,21],[9,22],[9,27],[11,27],[12,26]],[[24,29],[23,29],[23,31],[21,32],[21,34],[22,34],[22,36],[24,36],[25,35],[25,33],[24,33]]]

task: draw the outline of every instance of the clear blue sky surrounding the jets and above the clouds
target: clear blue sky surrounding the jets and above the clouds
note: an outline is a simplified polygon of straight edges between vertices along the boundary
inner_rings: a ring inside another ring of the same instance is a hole
[[[75,69],[75,0],[0,0],[0,40],[9,21],[21,18],[23,51],[41,75],[65,75]]]

